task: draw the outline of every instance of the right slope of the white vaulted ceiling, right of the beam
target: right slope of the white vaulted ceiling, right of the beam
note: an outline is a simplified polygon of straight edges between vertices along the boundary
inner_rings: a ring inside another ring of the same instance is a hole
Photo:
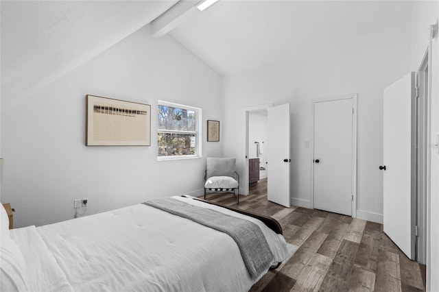
[[[170,32],[222,74],[410,25],[412,1],[219,1]]]

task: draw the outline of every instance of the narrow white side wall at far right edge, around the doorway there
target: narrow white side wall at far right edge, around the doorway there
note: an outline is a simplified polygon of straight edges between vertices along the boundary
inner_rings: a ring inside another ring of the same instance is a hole
[[[438,1],[415,1],[412,14],[412,50],[410,69],[418,71],[420,62],[429,46],[429,25],[438,23]],[[433,66],[431,77],[431,143],[435,144],[439,134],[439,42],[433,40]],[[437,147],[431,147],[431,192],[429,229],[431,238],[427,243],[427,289],[439,291],[439,154]]]

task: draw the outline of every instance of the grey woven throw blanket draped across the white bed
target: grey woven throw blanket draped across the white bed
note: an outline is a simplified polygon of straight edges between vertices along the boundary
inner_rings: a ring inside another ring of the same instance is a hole
[[[193,206],[171,197],[152,199],[143,204],[228,234],[237,243],[253,280],[266,271],[274,259],[261,228],[251,221],[225,215],[208,208]]]

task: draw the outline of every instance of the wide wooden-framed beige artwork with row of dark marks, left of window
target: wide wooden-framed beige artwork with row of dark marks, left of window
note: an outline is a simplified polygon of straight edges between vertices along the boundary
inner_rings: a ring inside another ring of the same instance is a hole
[[[86,146],[151,146],[151,106],[86,95]]]

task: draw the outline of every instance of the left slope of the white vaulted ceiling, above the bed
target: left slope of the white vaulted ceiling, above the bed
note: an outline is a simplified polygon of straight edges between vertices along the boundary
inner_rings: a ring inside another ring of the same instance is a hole
[[[2,107],[84,64],[177,1],[2,0]]]

